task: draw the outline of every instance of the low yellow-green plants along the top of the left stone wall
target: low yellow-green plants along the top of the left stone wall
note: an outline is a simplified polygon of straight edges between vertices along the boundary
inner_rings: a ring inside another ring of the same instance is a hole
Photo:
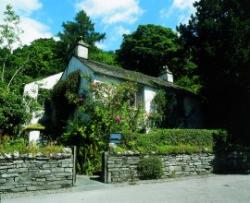
[[[23,138],[11,139],[7,136],[3,137],[0,142],[0,154],[16,152],[20,154],[53,154],[63,152],[63,147],[53,144],[39,146],[36,144],[28,144],[27,140]]]

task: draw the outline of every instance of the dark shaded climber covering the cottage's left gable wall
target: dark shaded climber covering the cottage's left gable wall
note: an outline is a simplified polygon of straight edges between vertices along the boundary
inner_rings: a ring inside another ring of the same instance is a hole
[[[67,79],[60,80],[53,88],[51,96],[45,101],[45,116],[41,123],[54,139],[62,135],[70,117],[73,116],[80,101],[78,95],[80,74],[71,73]]]

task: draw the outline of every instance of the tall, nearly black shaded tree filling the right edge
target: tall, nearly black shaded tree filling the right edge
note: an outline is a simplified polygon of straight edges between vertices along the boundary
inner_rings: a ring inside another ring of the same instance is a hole
[[[196,14],[178,30],[198,65],[209,126],[225,127],[233,141],[246,143],[250,141],[249,2],[200,0],[194,6]]]

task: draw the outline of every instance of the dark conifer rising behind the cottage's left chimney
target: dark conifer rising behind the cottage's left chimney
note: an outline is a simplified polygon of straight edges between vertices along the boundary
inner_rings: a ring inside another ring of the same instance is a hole
[[[104,33],[95,31],[94,23],[92,23],[84,11],[80,11],[76,14],[75,21],[68,21],[63,23],[62,26],[63,32],[60,32],[58,36],[61,40],[62,56],[66,60],[80,38],[92,47],[95,46],[96,42],[105,38]]]

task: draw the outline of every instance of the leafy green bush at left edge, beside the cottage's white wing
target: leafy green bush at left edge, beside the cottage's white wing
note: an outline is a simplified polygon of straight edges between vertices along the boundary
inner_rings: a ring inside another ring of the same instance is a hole
[[[0,130],[1,134],[16,135],[23,123],[30,116],[27,114],[22,96],[0,84]]]

